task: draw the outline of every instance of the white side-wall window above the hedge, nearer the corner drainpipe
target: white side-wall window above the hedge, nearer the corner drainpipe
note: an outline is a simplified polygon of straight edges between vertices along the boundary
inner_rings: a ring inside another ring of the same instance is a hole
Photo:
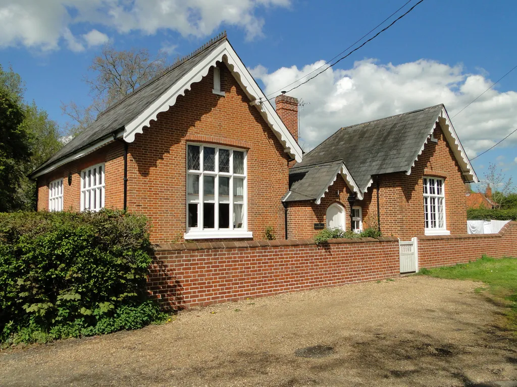
[[[99,176],[99,168],[100,176]],[[95,170],[95,179],[93,172]],[[99,184],[100,177],[100,184]],[[95,184],[93,184],[95,180]],[[105,164],[96,164],[81,171],[81,211],[98,212],[104,208]],[[94,193],[94,195],[92,195]],[[86,203],[87,201],[87,203]]]

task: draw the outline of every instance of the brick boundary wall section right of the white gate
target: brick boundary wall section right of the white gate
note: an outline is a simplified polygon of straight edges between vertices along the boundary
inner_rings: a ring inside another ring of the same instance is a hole
[[[418,267],[437,267],[480,259],[517,257],[517,222],[509,222],[498,234],[436,235],[418,237]]]

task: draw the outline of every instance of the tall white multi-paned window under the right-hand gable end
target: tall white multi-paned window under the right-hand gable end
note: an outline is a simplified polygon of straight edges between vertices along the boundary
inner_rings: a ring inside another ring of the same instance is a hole
[[[423,205],[425,235],[448,235],[446,207],[445,207],[445,180],[433,176],[423,176]],[[440,224],[439,202],[442,201],[442,224]]]

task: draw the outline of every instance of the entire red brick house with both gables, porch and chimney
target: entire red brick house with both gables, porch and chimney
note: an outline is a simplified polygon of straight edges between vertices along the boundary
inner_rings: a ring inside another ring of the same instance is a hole
[[[342,128],[305,155],[297,105],[282,94],[275,110],[222,34],[35,170],[38,211],[125,208],[149,218],[153,243],[262,239],[270,226],[311,238],[350,229],[349,202],[354,229],[466,233],[477,177],[443,105]]]

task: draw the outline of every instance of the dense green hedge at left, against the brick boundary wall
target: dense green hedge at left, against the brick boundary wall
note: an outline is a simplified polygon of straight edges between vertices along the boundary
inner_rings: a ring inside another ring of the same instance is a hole
[[[147,298],[144,217],[0,214],[0,341],[46,342],[136,329],[164,318]]]

